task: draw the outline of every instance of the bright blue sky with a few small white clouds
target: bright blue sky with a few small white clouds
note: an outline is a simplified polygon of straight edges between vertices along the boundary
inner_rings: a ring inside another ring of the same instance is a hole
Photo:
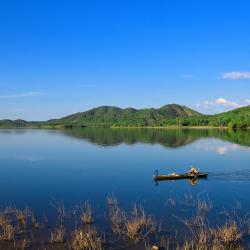
[[[250,104],[247,0],[0,4],[0,119],[178,103]]]

